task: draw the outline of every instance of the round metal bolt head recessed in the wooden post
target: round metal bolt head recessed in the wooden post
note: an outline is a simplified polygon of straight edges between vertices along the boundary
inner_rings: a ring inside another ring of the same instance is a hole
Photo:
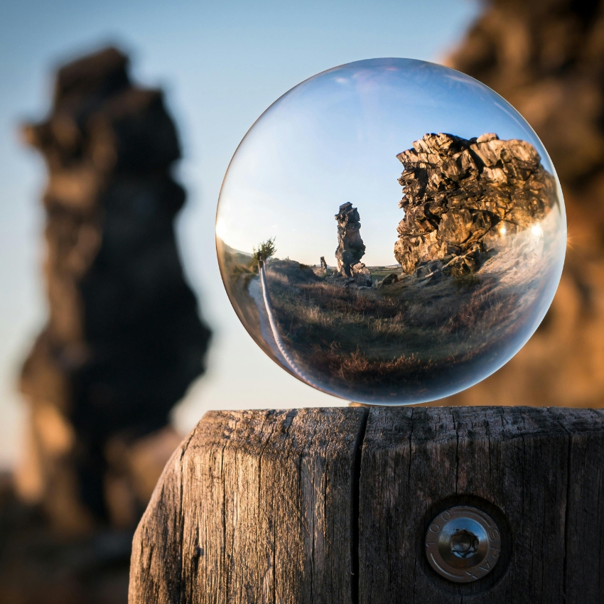
[[[501,536],[495,521],[475,507],[459,505],[433,519],[426,532],[430,566],[455,583],[484,577],[497,564]]]

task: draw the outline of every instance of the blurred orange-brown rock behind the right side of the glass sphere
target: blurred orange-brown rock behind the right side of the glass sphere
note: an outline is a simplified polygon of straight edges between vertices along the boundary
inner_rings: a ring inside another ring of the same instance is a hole
[[[446,64],[533,126],[568,216],[556,298],[500,371],[437,404],[604,405],[604,2],[492,0]]]

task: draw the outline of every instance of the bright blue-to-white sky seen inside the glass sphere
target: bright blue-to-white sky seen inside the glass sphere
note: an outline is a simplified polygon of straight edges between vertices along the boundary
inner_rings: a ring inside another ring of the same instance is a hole
[[[220,193],[219,237],[251,253],[276,238],[277,255],[335,266],[334,215],[358,207],[368,266],[392,265],[402,166],[397,153],[426,132],[485,132],[536,146],[531,127],[470,77],[416,60],[364,60],[306,80],[275,102],[237,149]]]

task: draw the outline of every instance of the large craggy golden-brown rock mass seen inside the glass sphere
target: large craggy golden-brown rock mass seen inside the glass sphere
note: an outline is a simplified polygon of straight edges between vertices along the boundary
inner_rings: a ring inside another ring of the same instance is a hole
[[[554,177],[526,141],[426,134],[397,158],[405,215],[394,257],[406,274],[433,261],[449,274],[474,273],[555,199]]]

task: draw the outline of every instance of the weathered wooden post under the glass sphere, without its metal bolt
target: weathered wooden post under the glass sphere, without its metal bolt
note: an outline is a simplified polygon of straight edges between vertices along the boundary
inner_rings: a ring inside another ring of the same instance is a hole
[[[451,505],[490,514],[475,583],[428,566]],[[136,532],[130,604],[604,603],[604,412],[361,407],[206,414]]]

